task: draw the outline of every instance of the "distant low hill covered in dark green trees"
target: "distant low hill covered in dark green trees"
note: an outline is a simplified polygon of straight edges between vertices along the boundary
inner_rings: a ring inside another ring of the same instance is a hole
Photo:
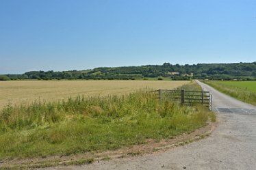
[[[189,79],[213,79],[213,80],[255,80],[256,61],[253,63],[198,63],[198,64],[170,64],[125,66],[116,68],[94,68],[91,70],[71,70],[63,72],[32,71],[24,74],[6,74],[11,80],[17,79],[159,79],[159,80],[189,80]],[[6,79],[6,77],[5,77]]]

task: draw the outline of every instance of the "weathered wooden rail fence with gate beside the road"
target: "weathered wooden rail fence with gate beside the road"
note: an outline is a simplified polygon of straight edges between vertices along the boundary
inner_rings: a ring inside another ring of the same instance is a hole
[[[167,97],[179,100],[181,104],[202,104],[212,111],[212,94],[209,91],[159,89],[159,98]]]

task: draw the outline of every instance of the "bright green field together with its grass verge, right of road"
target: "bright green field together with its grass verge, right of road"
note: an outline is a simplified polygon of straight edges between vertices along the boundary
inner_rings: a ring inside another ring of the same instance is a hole
[[[233,98],[256,105],[256,81],[203,81]]]

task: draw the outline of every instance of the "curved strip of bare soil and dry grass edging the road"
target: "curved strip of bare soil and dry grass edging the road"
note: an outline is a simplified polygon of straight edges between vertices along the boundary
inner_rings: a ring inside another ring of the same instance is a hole
[[[110,160],[113,158],[124,158],[127,156],[140,156],[142,154],[153,154],[154,152],[164,152],[165,150],[185,145],[192,141],[198,141],[207,137],[216,127],[216,122],[208,122],[207,126],[199,128],[191,133],[184,133],[173,139],[155,141],[149,139],[145,144],[123,147],[118,150],[105,152],[85,152],[68,156],[48,156],[46,158],[15,158],[12,160],[1,160],[0,169],[33,169],[39,167],[52,167],[57,165],[79,165],[92,163],[100,160]]]

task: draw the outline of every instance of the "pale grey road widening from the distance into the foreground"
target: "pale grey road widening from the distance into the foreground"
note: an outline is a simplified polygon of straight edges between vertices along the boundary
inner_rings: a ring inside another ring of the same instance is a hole
[[[200,85],[211,91],[218,112],[219,124],[210,137],[166,152],[48,169],[256,169],[256,107]]]

